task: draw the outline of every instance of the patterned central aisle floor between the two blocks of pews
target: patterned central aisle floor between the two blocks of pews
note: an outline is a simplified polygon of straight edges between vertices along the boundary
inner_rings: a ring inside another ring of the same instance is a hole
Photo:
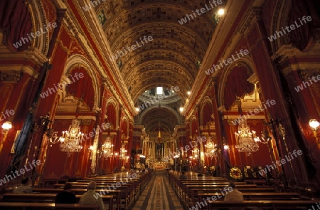
[[[180,202],[169,185],[167,172],[155,172],[132,210],[181,209]]]

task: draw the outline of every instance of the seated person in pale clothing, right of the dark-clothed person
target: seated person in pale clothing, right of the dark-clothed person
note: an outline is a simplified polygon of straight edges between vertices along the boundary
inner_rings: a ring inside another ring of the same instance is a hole
[[[87,192],[80,197],[79,204],[87,205],[99,205],[99,210],[105,210],[105,204],[103,204],[100,194],[95,192],[97,184],[90,182],[87,185]]]

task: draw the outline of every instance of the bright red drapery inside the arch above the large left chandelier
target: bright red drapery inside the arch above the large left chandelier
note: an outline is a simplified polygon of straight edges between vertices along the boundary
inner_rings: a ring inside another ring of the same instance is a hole
[[[83,74],[82,78],[75,79],[75,73]],[[95,90],[93,89],[92,79],[84,68],[74,68],[69,76],[69,79],[73,82],[67,85],[66,90],[70,95],[75,98],[81,99],[92,110],[95,105]]]

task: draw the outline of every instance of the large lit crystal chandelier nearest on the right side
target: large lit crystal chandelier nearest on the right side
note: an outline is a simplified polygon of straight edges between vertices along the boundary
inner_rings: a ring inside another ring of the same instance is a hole
[[[239,152],[245,152],[247,156],[251,152],[257,152],[259,150],[259,145],[256,142],[257,137],[255,136],[255,131],[250,132],[250,127],[247,125],[247,120],[242,119],[238,127],[238,133],[235,132],[235,138],[237,140],[237,145],[235,148]]]

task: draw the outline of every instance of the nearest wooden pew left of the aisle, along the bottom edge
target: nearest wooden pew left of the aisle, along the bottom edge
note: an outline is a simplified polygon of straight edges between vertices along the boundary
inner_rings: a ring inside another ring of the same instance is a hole
[[[0,202],[0,209],[4,210],[48,210],[48,209],[81,209],[81,210],[98,210],[97,205],[80,205],[80,204],[45,204],[45,203],[10,203]]]

